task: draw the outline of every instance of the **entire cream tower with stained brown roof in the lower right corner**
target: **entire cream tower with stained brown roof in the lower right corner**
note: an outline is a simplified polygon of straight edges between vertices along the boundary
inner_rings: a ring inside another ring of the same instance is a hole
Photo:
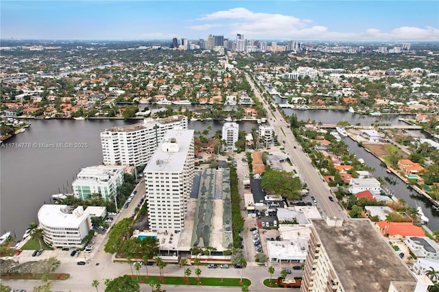
[[[426,291],[369,219],[311,219],[301,292]]]

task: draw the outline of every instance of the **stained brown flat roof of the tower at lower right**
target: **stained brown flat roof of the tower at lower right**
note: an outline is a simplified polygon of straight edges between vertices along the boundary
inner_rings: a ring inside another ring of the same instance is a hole
[[[348,219],[341,226],[311,221],[344,291],[388,291],[392,281],[416,283],[369,219]]]

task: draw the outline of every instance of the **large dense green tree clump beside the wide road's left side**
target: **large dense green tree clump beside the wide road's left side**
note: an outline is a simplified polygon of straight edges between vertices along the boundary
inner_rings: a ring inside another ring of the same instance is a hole
[[[270,195],[297,199],[302,184],[299,178],[293,178],[292,173],[269,170],[263,175],[261,187]]]

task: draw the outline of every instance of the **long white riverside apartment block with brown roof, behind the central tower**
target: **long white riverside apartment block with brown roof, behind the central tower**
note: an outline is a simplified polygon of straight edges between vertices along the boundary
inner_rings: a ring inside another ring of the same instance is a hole
[[[187,117],[144,119],[143,123],[110,127],[101,133],[104,165],[145,165],[168,130],[187,129]]]

